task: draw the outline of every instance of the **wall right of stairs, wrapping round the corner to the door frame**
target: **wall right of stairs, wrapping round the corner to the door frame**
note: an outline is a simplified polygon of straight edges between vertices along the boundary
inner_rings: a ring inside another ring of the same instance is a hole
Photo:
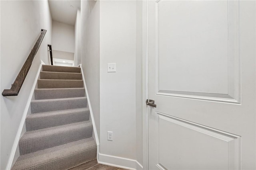
[[[130,168],[138,168],[135,160],[143,163],[141,22],[142,2],[81,2],[81,63],[100,135],[99,161]],[[116,72],[108,73],[107,63],[116,63]]]

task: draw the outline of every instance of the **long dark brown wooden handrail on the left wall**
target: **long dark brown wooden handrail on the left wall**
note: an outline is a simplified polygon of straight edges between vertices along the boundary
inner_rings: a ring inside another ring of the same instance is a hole
[[[46,31],[47,31],[46,29],[41,29],[41,35],[39,36],[38,40],[36,41],[36,44],[34,45],[32,51],[30,52],[28,59],[25,61],[24,65],[22,66],[16,80],[12,84],[11,89],[4,89],[4,91],[2,92],[3,96],[18,96],[20,92],[20,88],[26,78],[26,75],[28,74],[28,70],[30,69],[32,61],[36,56],[36,52],[38,51],[40,44],[44,39],[44,35]]]

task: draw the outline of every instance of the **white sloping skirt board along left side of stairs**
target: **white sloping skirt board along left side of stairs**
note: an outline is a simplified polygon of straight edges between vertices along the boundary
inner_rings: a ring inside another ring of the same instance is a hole
[[[18,147],[18,143],[20,141],[20,135],[22,133],[22,129],[23,129],[23,126],[24,126],[24,123],[25,123],[25,120],[26,120],[26,116],[27,116],[27,113],[28,113],[30,102],[32,100],[32,97],[33,97],[33,94],[34,94],[34,90],[36,88],[36,83],[37,83],[37,79],[39,77],[39,74],[40,74],[40,71],[41,71],[41,68],[42,68],[42,64],[44,64],[43,61],[41,61],[41,63],[40,63],[40,66],[39,66],[37,74],[36,74],[36,78],[34,80],[34,84],[33,84],[32,88],[31,88],[30,95],[28,97],[28,102],[27,102],[25,110],[23,112],[23,115],[22,115],[22,118],[21,118],[21,121],[20,121],[20,126],[19,126],[17,135],[16,135],[15,140],[14,140],[14,144],[12,145],[12,150],[11,150],[11,153],[10,153],[9,160],[7,162],[6,170],[10,170],[11,167],[12,167],[12,162],[13,162],[13,159],[14,159],[14,156],[15,156],[16,149]]]

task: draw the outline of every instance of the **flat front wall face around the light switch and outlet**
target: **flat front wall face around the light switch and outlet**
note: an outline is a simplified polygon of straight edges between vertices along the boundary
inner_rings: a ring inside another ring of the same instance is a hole
[[[107,72],[116,63],[116,72]],[[107,141],[113,131],[113,141]],[[136,160],[136,1],[100,2],[100,153]]]

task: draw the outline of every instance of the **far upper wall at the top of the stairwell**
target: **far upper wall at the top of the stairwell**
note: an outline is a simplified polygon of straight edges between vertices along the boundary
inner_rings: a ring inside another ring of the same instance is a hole
[[[74,53],[75,27],[52,21],[52,50]],[[54,56],[53,56],[54,57]]]

